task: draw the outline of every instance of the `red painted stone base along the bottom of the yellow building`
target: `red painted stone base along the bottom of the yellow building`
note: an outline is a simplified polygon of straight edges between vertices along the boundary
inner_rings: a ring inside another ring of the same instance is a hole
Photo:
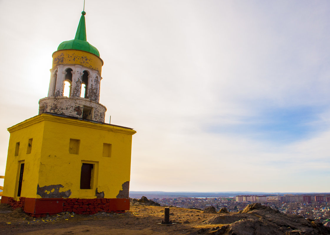
[[[129,210],[129,199],[126,198],[24,198],[15,201],[12,197],[2,196],[1,203],[6,203],[33,217],[44,217],[62,211],[76,214],[95,214],[99,211],[123,213]]]

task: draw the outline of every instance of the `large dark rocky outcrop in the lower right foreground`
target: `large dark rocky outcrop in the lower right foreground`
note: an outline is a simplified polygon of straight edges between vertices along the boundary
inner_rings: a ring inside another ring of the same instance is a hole
[[[330,229],[322,223],[301,216],[284,215],[260,203],[247,205],[242,211],[230,215],[216,215],[206,224],[225,224],[219,229],[204,231],[214,235],[326,235]]]

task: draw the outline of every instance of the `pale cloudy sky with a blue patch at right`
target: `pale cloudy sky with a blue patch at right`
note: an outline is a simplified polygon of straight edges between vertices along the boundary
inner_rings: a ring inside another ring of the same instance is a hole
[[[3,175],[7,128],[38,114],[83,0],[0,9]],[[106,122],[137,131],[130,190],[330,191],[329,1],[86,0],[85,12]]]

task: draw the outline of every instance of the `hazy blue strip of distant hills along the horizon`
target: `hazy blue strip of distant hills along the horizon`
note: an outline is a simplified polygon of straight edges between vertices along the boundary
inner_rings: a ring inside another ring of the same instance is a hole
[[[316,192],[248,192],[248,191],[230,191],[230,192],[163,192],[163,191],[130,191],[130,198],[226,198],[235,197],[237,195],[266,195],[266,196],[283,196],[284,194],[329,194]]]

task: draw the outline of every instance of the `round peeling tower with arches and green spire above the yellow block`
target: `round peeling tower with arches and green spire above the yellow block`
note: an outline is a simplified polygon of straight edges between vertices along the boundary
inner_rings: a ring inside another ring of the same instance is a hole
[[[87,42],[85,14],[83,11],[75,39],[62,42],[52,55],[48,97],[39,101],[39,114],[51,112],[104,122],[107,108],[99,103],[103,60]]]

